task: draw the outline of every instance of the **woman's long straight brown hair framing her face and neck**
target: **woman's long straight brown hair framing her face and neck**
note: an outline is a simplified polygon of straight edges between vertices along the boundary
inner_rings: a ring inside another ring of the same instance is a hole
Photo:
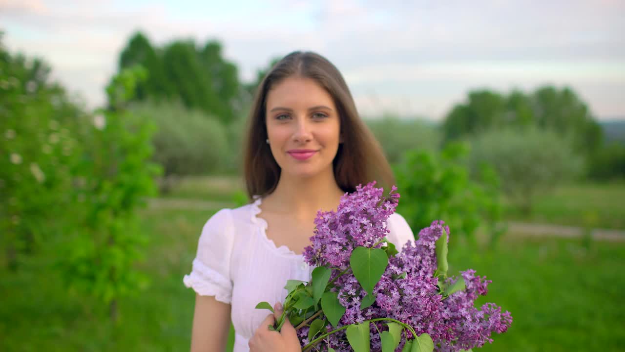
[[[344,192],[354,192],[357,185],[372,180],[384,189],[394,184],[392,170],[382,148],[358,115],[354,99],[339,70],[317,53],[294,51],[271,68],[254,96],[244,155],[244,177],[249,199],[253,195],[264,197],[271,194],[280,179],[280,167],[265,142],[267,93],[274,85],[293,75],[315,80],[334,100],[343,141],[332,161],[334,179],[339,187]]]

